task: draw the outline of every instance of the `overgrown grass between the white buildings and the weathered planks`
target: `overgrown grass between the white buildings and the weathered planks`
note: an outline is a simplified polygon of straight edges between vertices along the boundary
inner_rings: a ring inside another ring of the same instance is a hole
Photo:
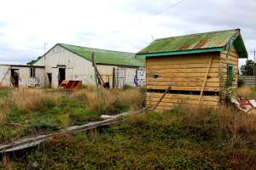
[[[143,107],[139,89],[95,88],[75,93],[49,89],[9,89],[0,98],[0,143],[73,125],[102,120],[102,114],[117,114]],[[98,98],[96,97],[98,96]]]

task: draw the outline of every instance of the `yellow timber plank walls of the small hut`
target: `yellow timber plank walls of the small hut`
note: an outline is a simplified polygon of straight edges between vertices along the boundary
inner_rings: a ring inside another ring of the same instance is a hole
[[[228,58],[227,52],[207,54],[186,54],[146,59],[147,72],[147,106],[156,105],[160,97],[169,86],[172,93],[156,108],[157,111],[172,109],[175,105],[197,105],[200,91],[207,73],[209,59],[212,64],[207,76],[203,105],[218,105],[219,92],[224,87],[227,78],[227,65],[234,66],[235,77],[233,87],[237,87],[238,54],[231,48]],[[158,91],[159,90],[159,91]],[[176,94],[177,92],[177,94]],[[186,92],[186,93],[183,93]]]

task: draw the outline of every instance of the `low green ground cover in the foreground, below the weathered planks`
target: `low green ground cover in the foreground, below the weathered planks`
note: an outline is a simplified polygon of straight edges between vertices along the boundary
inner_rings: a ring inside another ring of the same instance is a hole
[[[253,169],[255,132],[239,146],[232,145],[230,127],[205,111],[189,120],[183,110],[130,116],[125,122],[87,133],[63,134],[21,157],[15,168],[40,169]],[[233,119],[230,119],[232,122]],[[225,132],[225,133],[223,133]],[[0,164],[0,167],[3,165]]]

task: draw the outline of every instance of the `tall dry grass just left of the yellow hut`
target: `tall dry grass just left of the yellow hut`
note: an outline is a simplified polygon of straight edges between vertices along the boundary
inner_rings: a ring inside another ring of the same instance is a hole
[[[123,109],[139,110],[143,107],[145,98],[138,88],[99,89],[97,92],[96,90],[84,89],[73,93],[71,97],[84,101],[90,111],[108,114],[115,114]]]

